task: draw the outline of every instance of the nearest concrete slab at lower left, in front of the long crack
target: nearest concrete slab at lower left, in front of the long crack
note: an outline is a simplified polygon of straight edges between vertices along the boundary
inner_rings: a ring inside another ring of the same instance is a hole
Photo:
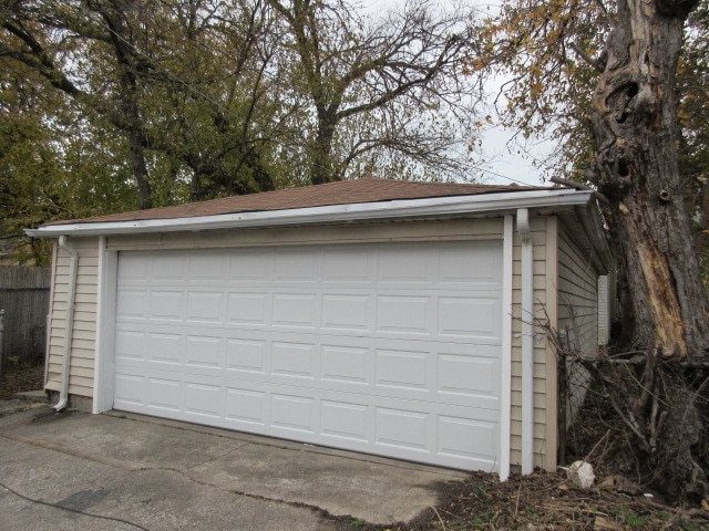
[[[9,456],[0,478],[14,491],[0,487],[0,529],[336,529],[311,510],[234,496],[174,470],[116,470],[25,442],[0,445]]]

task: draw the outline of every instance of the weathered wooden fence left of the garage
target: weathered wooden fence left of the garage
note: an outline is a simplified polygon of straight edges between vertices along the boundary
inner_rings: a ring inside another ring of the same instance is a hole
[[[44,358],[49,268],[0,267],[0,368]]]

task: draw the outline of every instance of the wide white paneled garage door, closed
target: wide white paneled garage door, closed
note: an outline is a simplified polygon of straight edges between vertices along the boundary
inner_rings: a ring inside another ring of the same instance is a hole
[[[500,241],[119,254],[114,408],[499,462]]]

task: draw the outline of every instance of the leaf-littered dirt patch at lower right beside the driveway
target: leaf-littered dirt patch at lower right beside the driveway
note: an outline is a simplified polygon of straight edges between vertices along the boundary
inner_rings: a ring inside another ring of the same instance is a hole
[[[536,472],[501,483],[497,477],[472,473],[451,485],[444,499],[407,525],[368,527],[367,531],[429,530],[706,530],[709,511],[653,506],[641,492],[617,487],[580,490],[566,475]],[[350,523],[350,527],[352,523]]]

